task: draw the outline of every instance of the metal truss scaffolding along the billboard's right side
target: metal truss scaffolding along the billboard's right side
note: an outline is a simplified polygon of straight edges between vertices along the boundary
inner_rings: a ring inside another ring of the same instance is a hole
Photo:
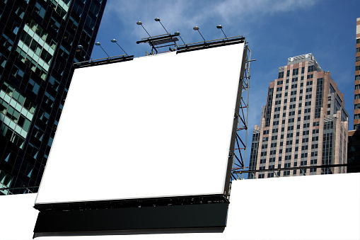
[[[250,62],[251,51],[247,47],[245,72],[243,77],[243,89],[240,98],[240,109],[238,115],[238,127],[236,130],[236,145],[233,154],[233,166],[231,169],[231,181],[243,179],[245,157],[248,142],[248,113],[249,113],[249,90],[250,90]]]

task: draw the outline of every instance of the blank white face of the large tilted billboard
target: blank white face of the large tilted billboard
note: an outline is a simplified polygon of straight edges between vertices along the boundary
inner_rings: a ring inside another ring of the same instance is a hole
[[[243,49],[76,69],[35,203],[222,194]]]

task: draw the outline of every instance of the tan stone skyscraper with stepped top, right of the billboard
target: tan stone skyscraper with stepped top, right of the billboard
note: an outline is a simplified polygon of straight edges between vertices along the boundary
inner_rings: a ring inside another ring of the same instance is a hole
[[[346,167],[277,171],[347,163],[348,114],[344,94],[312,54],[290,57],[272,81],[260,126],[252,135],[248,178],[344,173]]]

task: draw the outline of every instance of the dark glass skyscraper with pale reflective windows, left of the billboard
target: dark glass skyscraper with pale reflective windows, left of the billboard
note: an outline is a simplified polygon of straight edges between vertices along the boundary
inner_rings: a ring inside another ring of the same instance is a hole
[[[40,184],[72,64],[89,59],[105,4],[0,1],[0,188]]]

